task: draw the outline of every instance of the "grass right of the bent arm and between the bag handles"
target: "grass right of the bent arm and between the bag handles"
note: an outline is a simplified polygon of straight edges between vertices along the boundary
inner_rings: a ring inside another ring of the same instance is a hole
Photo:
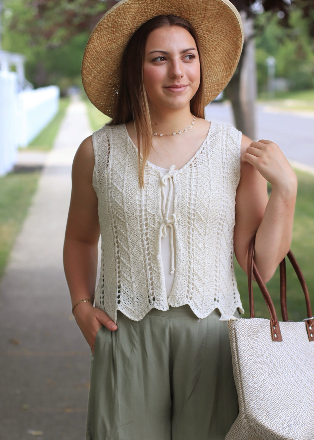
[[[314,308],[314,176],[299,171],[296,171],[296,175],[298,177],[298,195],[293,224],[291,250],[303,271],[309,289],[312,307]],[[299,321],[306,318],[304,295],[299,281],[288,262],[288,258],[286,258],[286,260],[288,279],[288,315],[289,319]],[[243,316],[247,318],[249,317],[247,278],[236,260],[235,272],[241,301],[245,308],[245,315]],[[262,293],[260,293],[255,282],[254,285],[256,317],[269,318],[269,313],[263,300]],[[267,288],[274,301],[278,318],[281,320],[278,269],[273,278],[267,283]]]

